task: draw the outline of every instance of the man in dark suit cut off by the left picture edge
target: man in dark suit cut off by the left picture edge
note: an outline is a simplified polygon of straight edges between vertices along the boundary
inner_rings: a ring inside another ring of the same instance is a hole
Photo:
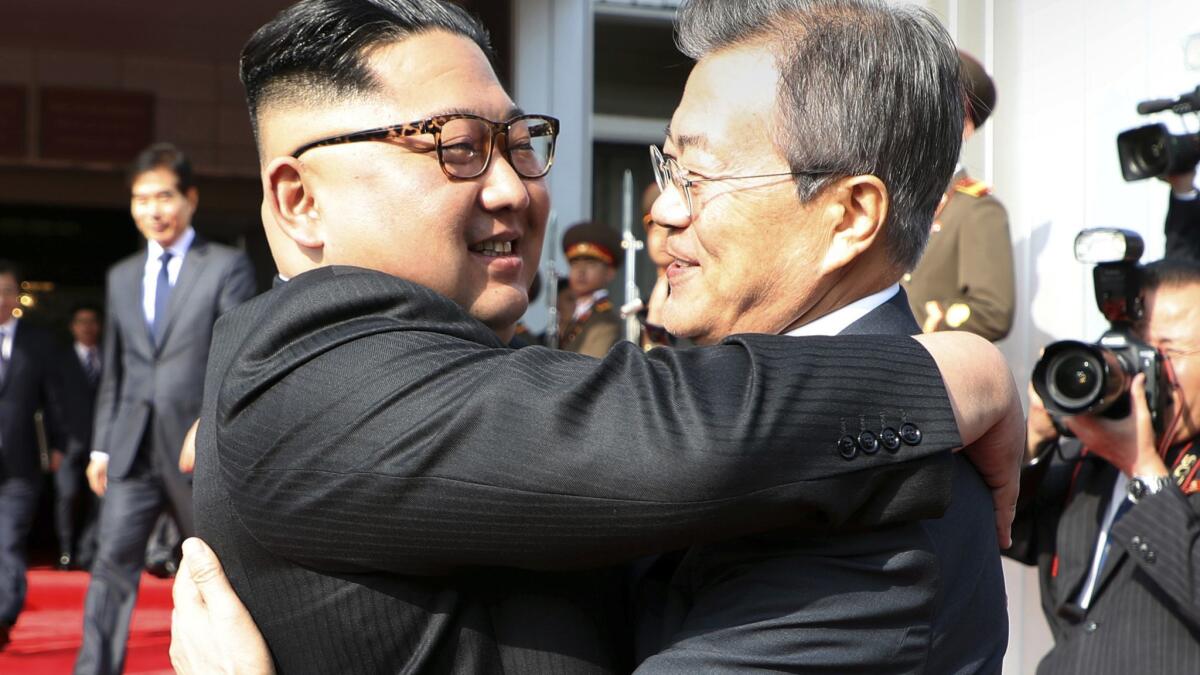
[[[0,261],[0,650],[25,604],[25,544],[42,485],[34,414],[44,411],[52,448],[64,440],[59,354],[49,335],[14,316],[20,281],[17,265]]]

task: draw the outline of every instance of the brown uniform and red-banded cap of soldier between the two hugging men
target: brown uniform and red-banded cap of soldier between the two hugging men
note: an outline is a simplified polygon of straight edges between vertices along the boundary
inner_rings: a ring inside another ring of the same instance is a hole
[[[566,253],[568,262],[587,258],[616,269],[619,264],[618,250],[620,237],[599,222],[581,222],[563,234],[563,252]],[[581,300],[582,298],[576,298],[576,306],[581,305]],[[620,340],[625,322],[608,299],[606,289],[593,292],[590,300],[590,306],[582,312],[576,310],[559,336],[558,346],[569,352],[600,358]]]

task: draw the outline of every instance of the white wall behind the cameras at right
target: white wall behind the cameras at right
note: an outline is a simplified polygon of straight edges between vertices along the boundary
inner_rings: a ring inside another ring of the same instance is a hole
[[[1175,115],[1139,117],[1138,101],[1200,84],[1183,47],[1200,34],[1194,0],[928,0],[992,72],[996,114],[965,149],[1008,207],[1018,280],[1012,335],[1001,344],[1018,384],[1049,341],[1096,339],[1104,321],[1091,271],[1072,256],[1087,227],[1124,227],[1162,256],[1168,189],[1122,181],[1118,132]],[[1192,130],[1196,129],[1193,121]],[[1006,561],[1012,634],[1006,673],[1033,673],[1052,644],[1032,569]]]

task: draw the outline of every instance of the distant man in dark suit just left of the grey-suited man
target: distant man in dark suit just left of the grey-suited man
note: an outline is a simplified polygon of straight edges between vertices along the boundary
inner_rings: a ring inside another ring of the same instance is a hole
[[[96,392],[103,359],[100,354],[100,310],[79,305],[71,312],[71,352],[61,359],[62,414],[67,443],[54,473],[54,530],[59,537],[59,567],[86,568],[96,550],[96,495],[88,489],[85,470],[96,419]],[[73,357],[73,358],[72,358]]]

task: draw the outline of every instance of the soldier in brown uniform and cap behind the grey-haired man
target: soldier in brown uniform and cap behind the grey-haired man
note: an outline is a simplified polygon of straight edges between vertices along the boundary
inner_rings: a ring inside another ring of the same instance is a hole
[[[967,114],[967,141],[991,114],[996,88],[983,66],[959,52]],[[996,341],[1013,327],[1015,289],[1013,244],[1008,214],[991,189],[967,175],[960,163],[938,219],[934,221],[925,255],[905,275],[905,291],[925,333],[967,330]]]

